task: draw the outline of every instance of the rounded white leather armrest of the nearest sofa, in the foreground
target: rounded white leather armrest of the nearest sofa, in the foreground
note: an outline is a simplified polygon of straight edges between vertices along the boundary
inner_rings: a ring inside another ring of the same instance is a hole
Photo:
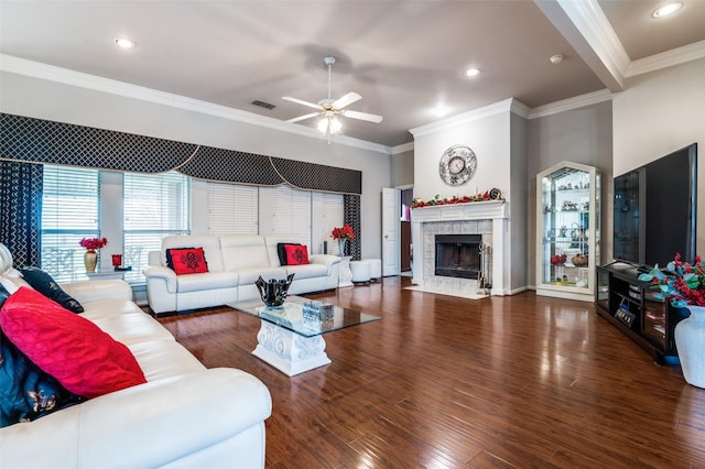
[[[196,371],[2,428],[0,458],[9,468],[162,467],[258,425],[263,441],[271,404],[249,373]]]

